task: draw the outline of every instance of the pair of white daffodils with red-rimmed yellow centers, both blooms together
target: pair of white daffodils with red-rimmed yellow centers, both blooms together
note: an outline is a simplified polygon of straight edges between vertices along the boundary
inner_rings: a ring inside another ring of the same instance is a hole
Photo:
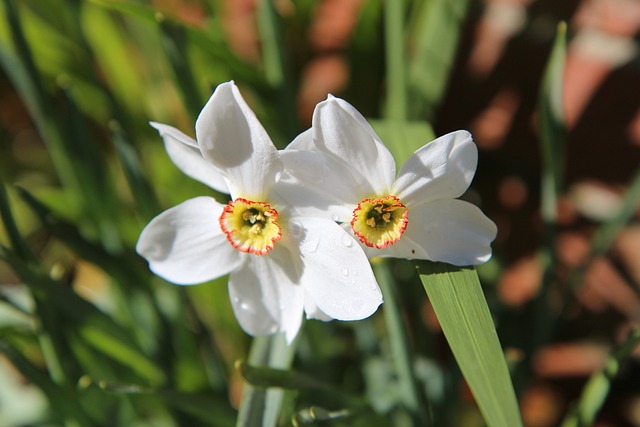
[[[233,82],[219,85],[194,141],[152,123],[188,176],[228,193],[187,200],[154,218],[137,251],[157,275],[196,284],[229,274],[229,296],[254,336],[291,342],[307,318],[359,320],[382,303],[368,256],[478,264],[495,225],[453,198],[477,151],[466,132],[419,149],[395,176],[393,157],[348,103],[318,104],[313,126],[278,151]],[[362,243],[362,244],[360,244]]]

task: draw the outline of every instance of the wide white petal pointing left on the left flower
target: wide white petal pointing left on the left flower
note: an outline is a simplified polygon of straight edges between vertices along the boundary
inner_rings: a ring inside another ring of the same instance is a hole
[[[240,266],[242,254],[220,229],[221,213],[222,205],[210,197],[187,200],[151,220],[136,251],[155,274],[179,285],[224,276]]]

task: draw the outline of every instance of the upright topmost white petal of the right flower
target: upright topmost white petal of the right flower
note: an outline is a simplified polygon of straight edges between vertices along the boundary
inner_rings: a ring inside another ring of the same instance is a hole
[[[368,184],[366,196],[388,194],[396,174],[393,156],[351,104],[329,96],[313,112],[312,131],[317,149],[337,156]]]

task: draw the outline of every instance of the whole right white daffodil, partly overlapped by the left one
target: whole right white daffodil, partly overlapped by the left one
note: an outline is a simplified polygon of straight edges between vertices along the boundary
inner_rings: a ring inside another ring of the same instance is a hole
[[[396,176],[393,156],[349,103],[332,96],[313,125],[282,153],[289,198],[308,215],[341,223],[368,255],[456,265],[491,257],[497,229],[480,209],[457,200],[469,187],[478,152],[466,131],[418,149]],[[313,192],[302,190],[312,186]]]

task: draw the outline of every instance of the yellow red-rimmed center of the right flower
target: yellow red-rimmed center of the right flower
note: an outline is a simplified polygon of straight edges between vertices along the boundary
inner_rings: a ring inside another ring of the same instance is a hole
[[[351,228],[371,248],[386,248],[400,239],[409,222],[408,211],[395,196],[364,199],[353,210]]]

